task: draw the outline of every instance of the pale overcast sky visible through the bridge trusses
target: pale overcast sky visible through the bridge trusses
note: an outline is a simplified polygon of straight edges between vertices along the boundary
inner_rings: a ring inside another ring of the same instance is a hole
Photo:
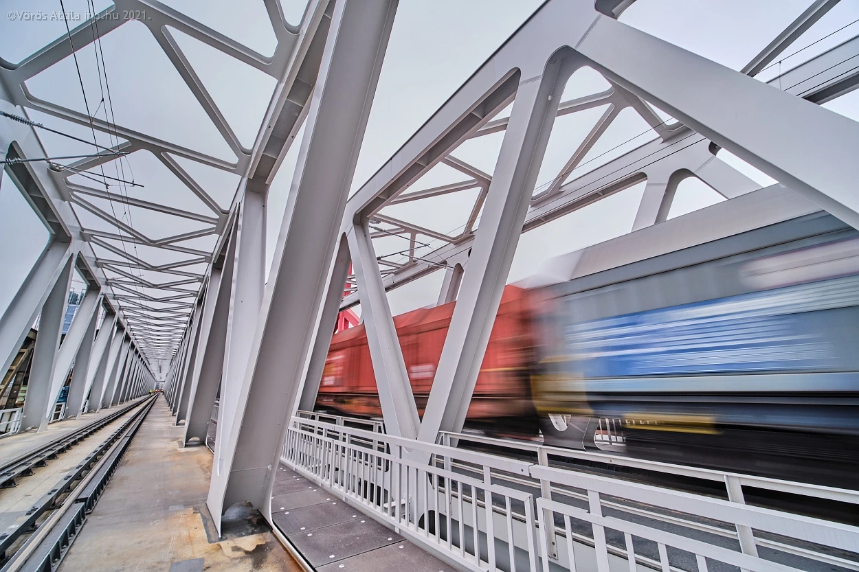
[[[261,0],[243,2],[241,9],[236,8],[237,3],[228,0],[173,0],[167,3],[254,50],[267,55],[274,49],[274,35],[265,19]],[[639,0],[626,11],[622,21],[739,70],[810,3],[811,0]],[[0,56],[4,59],[20,61],[65,32],[62,22],[20,21],[8,17],[8,11],[16,9],[47,12],[57,10],[58,0],[4,0],[2,5]],[[107,3],[96,2],[97,9],[105,5]],[[85,0],[65,1],[68,11],[77,10],[83,13],[86,11],[85,6]],[[538,6],[539,2],[536,0],[401,0],[357,163],[353,190],[375,173]],[[298,0],[284,0],[284,10],[290,21],[297,22],[301,17],[302,3]],[[859,3],[855,0],[843,0],[829,15],[797,40],[788,53],[813,44],[815,40],[857,18]],[[788,70],[856,33],[859,33],[859,25],[847,27],[794,57],[785,58],[778,67],[765,71],[765,75],[769,76],[764,79],[776,74],[780,68]],[[197,40],[179,33],[177,42],[198,70],[199,76],[210,89],[216,104],[241,142],[246,145],[253,143],[253,137],[259,129],[259,121],[271,96],[271,77],[231,61],[201,45]],[[111,78],[113,106],[120,125],[147,131],[225,159],[231,156],[202,108],[193,100],[190,91],[142,24],[125,24],[108,34],[102,43],[107,71]],[[88,100],[95,106],[98,103],[95,94],[98,80],[93,56],[88,52],[88,58],[81,58],[80,64]],[[604,86],[604,80],[593,70],[582,70],[573,77],[565,95],[570,97],[595,93]],[[35,77],[28,87],[37,96],[83,110],[76,71],[70,60],[61,62]],[[859,119],[859,97],[856,92],[827,106],[837,113]],[[538,185],[551,180],[557,174],[557,169],[564,164],[575,149],[576,143],[582,140],[599,115],[599,110],[591,110],[558,120]],[[33,116],[34,119],[44,121],[46,125],[66,132],[81,132],[80,128],[43,114],[34,113]],[[643,124],[643,119],[634,113],[624,113],[618,118],[616,125],[612,125],[606,132],[606,136],[600,139],[591,155],[600,155],[636,135],[640,137],[635,143],[645,143],[652,132],[647,134],[644,131],[647,131],[647,126]],[[500,141],[500,134],[498,137],[473,140],[454,151],[454,155],[491,173]],[[49,155],[80,149],[57,137],[43,139],[43,143]],[[267,241],[269,261],[295,168],[297,148],[298,145],[295,144],[271,188]],[[604,159],[628,149],[614,149]],[[729,157],[726,160],[731,161]],[[200,212],[204,212],[204,207],[198,204],[197,199],[193,198],[190,192],[183,190],[177,181],[170,180],[172,175],[165,173],[163,167],[158,161],[154,161],[151,155],[147,156],[145,152],[141,152],[132,155],[129,161],[137,180],[146,184],[144,189],[133,191],[139,192],[140,197],[150,200],[155,198],[161,204],[174,204],[180,208],[200,209]],[[596,161],[591,167],[598,164],[599,161]],[[767,183],[768,178],[762,173],[756,173],[739,163],[737,165],[760,184]],[[235,177],[211,173],[204,167],[186,167],[192,170],[192,174],[199,180],[204,181],[204,186],[219,203],[229,203],[231,194],[235,191]],[[413,189],[464,179],[449,171],[451,170],[445,172],[444,168],[437,168],[424,180],[418,181]],[[15,245],[14,248],[4,248],[3,255],[0,255],[4,258],[3,267],[8,271],[6,278],[0,283],[2,310],[8,305],[26,272],[44,247],[47,233],[32,212],[29,212],[20,193],[9,192],[11,185],[7,178],[4,177],[0,188],[0,242]],[[629,232],[641,192],[641,186],[632,187],[587,209],[524,234],[509,282],[521,280],[539,271],[545,260],[552,256]],[[465,221],[472,200],[473,192],[462,192],[439,198],[434,204],[413,203],[391,212],[424,227],[442,232],[453,231]],[[688,180],[678,192],[672,216],[679,216],[717,200],[721,198],[703,183]],[[117,208],[120,217],[130,215],[122,210],[122,205]],[[86,213],[80,214],[80,210],[76,212],[79,216],[87,216]],[[156,218],[147,218],[146,213],[135,210],[131,214],[134,216],[136,228],[145,228],[150,234],[174,234],[175,228],[167,228]],[[90,219],[84,222],[99,224],[98,221]],[[377,253],[386,254],[401,250],[406,245],[398,244],[398,240],[405,243],[400,239],[375,241]],[[201,240],[197,246],[210,248],[210,243],[213,246],[212,240]],[[391,293],[389,299],[393,313],[435,303],[441,280],[441,272],[436,272]]]

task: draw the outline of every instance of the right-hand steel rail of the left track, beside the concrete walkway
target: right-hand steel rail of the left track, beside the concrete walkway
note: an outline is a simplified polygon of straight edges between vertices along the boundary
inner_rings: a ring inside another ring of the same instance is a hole
[[[156,399],[157,396],[126,407],[122,413],[139,409],[27,510],[26,518],[17,521],[14,529],[0,534],[0,557],[5,560],[0,572],[21,569],[50,572],[58,565]],[[51,514],[46,520],[37,524],[48,513]],[[6,558],[5,552],[25,534],[30,534],[29,538]]]

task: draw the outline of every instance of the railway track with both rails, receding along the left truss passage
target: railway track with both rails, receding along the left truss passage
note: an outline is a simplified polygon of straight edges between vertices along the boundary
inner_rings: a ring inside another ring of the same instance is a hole
[[[0,572],[51,572],[57,568],[156,399],[157,394],[144,399],[143,402],[125,407],[3,466],[3,475],[14,473],[13,478],[27,474],[27,466],[32,473],[32,468],[50,459],[50,455],[46,455],[47,452],[52,451],[51,454],[56,458],[58,452],[68,450],[74,443],[85,438],[77,434],[92,435],[137,408],[131,417],[108,435],[98,447],[94,447],[85,459],[67,472],[51,490],[15,520],[12,526],[0,533]],[[66,441],[74,442],[68,444]]]

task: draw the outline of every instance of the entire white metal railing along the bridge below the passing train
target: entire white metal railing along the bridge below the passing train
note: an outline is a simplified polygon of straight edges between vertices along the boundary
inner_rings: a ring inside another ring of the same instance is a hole
[[[855,491],[524,441],[442,434],[443,442],[491,442],[537,453],[536,462],[509,459],[309,417],[314,416],[293,417],[284,462],[466,569],[537,570],[539,557],[544,570],[549,562],[556,570],[582,570],[582,563],[576,568],[580,553],[588,559],[582,562],[599,572],[608,572],[606,562],[612,562],[612,572],[618,565],[635,570],[630,562],[661,572],[705,572],[706,559],[722,563],[714,563],[711,570],[725,565],[760,572],[791,569],[758,557],[763,547],[769,558],[799,563],[799,569],[810,561],[816,567],[859,570],[859,528],[748,506],[743,497],[747,486],[845,502],[855,509]],[[550,456],[721,481],[728,498],[550,466]],[[486,508],[487,490],[491,510]],[[611,531],[607,541],[606,528]],[[570,546],[575,546],[572,562]]]

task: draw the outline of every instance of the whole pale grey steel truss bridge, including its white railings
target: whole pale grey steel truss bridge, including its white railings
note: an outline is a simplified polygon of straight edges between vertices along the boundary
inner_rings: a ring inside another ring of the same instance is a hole
[[[521,447],[503,441],[493,442],[509,455],[456,447],[477,439],[462,429],[492,327],[486,317],[497,312],[523,232],[642,182],[633,225],[641,240],[623,252],[598,246],[605,256],[578,266],[577,276],[819,210],[859,228],[859,125],[819,106],[856,87],[859,38],[779,70],[769,82],[755,77],[837,0],[814,2],[740,71],[618,21],[631,3],[548,0],[352,194],[396,0],[311,0],[295,26],[275,0],[266,0],[277,39],[270,57],[154,1],[116,0],[101,13],[95,21],[103,37],[124,23],[108,17],[114,11],[147,11],[150,17],[138,23],[235,161],[34,94],[28,82],[98,44],[92,20],[20,63],[0,62],[5,171],[51,234],[0,319],[6,372],[40,316],[21,427],[46,427],[74,363],[69,415],[83,411],[88,395],[92,411],[166,380],[189,443],[206,440],[217,403],[207,504],[218,526],[236,502],[253,503],[271,521],[271,492],[283,461],[460,569],[775,572],[795,569],[797,562],[859,569],[859,560],[850,558],[859,551],[856,527],[744,501],[744,489],[753,488],[856,505],[853,491],[536,445],[525,447],[535,455],[532,462],[516,456]],[[277,82],[253,145],[242,143],[225,119],[175,31]],[[583,68],[599,72],[609,88],[564,100],[568,80]],[[603,109],[599,121],[570,149],[551,184],[534,193],[553,123],[597,107]],[[655,137],[568,180],[625,109],[640,115]],[[92,130],[103,152],[64,167],[31,161],[50,155],[40,140],[46,125],[27,120],[29,110]],[[302,125],[266,282],[267,193]],[[457,157],[463,143],[497,133],[503,142],[492,173]],[[716,149],[779,183],[761,188],[716,157]],[[141,151],[204,208],[146,200],[133,188],[121,195],[76,178],[118,161],[119,154]],[[193,164],[233,175],[235,197],[217,200],[192,174]],[[409,191],[440,164],[460,173],[461,181]],[[674,192],[691,176],[728,200],[669,225]],[[476,189],[477,198],[467,222],[449,234],[389,214],[392,205],[468,189]],[[11,190],[3,186],[2,192]],[[178,230],[143,232],[110,213],[113,203],[161,216]],[[390,235],[410,244],[399,259],[377,257],[374,240]],[[206,237],[211,246],[195,242]],[[420,250],[422,240],[432,240],[433,248]],[[457,304],[420,418],[387,292],[440,269],[439,301]],[[74,271],[88,289],[60,345]],[[302,412],[313,408],[338,313],[357,303],[384,418],[362,429]],[[550,462],[561,456],[717,482],[725,497]],[[633,538],[654,550],[633,545]]]

